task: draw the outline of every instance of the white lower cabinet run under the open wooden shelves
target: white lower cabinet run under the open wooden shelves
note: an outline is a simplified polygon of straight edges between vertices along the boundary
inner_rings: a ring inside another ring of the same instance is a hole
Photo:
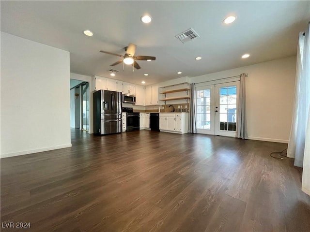
[[[187,133],[188,132],[188,113],[179,114],[159,114],[159,130],[174,132],[174,133]]]

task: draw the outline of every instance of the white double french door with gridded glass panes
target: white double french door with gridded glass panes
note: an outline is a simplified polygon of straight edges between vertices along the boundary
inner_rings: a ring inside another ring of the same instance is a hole
[[[197,132],[236,137],[239,81],[196,88]]]

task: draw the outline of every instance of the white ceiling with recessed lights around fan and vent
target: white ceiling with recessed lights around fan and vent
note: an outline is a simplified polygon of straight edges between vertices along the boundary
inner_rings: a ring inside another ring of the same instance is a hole
[[[198,76],[296,54],[299,31],[310,21],[310,1],[3,1],[1,31],[70,52],[70,72],[154,84]],[[150,14],[150,24],[140,21]],[[233,24],[223,19],[234,14]],[[175,35],[193,28],[182,43]],[[83,34],[93,31],[93,37]],[[128,43],[135,55],[155,56],[131,66],[111,67]],[[249,53],[248,59],[241,55]],[[196,61],[195,57],[202,59]],[[178,75],[177,72],[182,74]],[[145,77],[143,74],[148,73]]]

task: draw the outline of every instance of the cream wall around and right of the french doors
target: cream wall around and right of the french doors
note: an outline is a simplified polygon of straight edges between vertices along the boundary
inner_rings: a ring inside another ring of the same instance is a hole
[[[246,107],[249,139],[288,143],[295,72],[294,56],[192,77],[191,82],[199,83],[248,73]]]

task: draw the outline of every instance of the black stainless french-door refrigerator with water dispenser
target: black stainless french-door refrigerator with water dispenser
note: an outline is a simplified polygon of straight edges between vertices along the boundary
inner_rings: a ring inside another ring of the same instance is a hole
[[[99,90],[93,92],[93,132],[122,132],[122,93]]]

